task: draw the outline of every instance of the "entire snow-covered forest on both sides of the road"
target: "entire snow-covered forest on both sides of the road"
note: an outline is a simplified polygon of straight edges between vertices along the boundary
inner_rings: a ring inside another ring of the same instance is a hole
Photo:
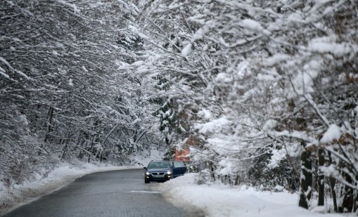
[[[356,212],[357,66],[357,1],[4,0],[0,181],[188,149],[198,184]]]

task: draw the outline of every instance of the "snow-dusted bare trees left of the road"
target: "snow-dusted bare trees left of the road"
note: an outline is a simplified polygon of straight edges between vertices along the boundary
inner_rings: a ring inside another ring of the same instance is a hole
[[[58,159],[118,162],[155,140],[128,70],[143,49],[137,15],[119,1],[1,1],[1,180]]]

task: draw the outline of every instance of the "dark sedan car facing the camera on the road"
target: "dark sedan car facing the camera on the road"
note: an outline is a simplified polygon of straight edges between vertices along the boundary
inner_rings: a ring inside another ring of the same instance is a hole
[[[184,162],[181,164],[179,162],[152,161],[144,169],[146,169],[144,183],[170,180],[182,176],[186,172]]]

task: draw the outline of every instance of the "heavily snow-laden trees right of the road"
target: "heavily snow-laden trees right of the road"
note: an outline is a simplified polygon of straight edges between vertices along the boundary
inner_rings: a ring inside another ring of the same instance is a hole
[[[203,142],[192,159],[207,176],[256,182],[252,164],[269,156],[263,172],[293,170],[274,184],[302,168],[300,206],[314,190],[322,205],[326,176],[335,210],[355,211],[356,13],[355,1],[151,1],[153,50],[138,71],[165,77],[167,96],[192,112],[188,132]]]

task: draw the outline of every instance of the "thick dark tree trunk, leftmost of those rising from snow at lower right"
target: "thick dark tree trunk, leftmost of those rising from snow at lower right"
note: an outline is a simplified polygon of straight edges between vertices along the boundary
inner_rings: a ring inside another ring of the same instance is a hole
[[[300,201],[299,206],[308,209],[312,195],[312,159],[311,152],[305,150],[301,154]]]

